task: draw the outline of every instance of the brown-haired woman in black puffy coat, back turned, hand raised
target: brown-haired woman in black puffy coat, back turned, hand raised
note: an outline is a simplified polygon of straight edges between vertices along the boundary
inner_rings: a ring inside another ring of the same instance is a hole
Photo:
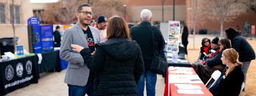
[[[88,48],[71,45],[95,73],[94,94],[137,96],[136,86],[144,72],[140,46],[131,41],[128,26],[119,16],[108,20],[107,36],[107,40],[95,44],[97,50],[93,53]]]

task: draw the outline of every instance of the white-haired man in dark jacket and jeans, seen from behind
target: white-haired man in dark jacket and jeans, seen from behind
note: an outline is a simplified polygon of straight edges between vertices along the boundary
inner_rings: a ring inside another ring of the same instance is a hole
[[[132,40],[136,40],[141,47],[141,53],[144,61],[145,72],[141,76],[139,84],[137,86],[138,95],[141,96],[144,93],[145,78],[147,84],[147,95],[156,95],[156,80],[157,74],[150,71],[150,64],[154,56],[153,45],[155,44],[156,55],[160,54],[159,51],[164,49],[164,38],[159,28],[151,26],[150,21],[152,19],[152,13],[150,10],[141,11],[141,23],[137,26],[133,26],[131,31]],[[154,44],[152,40],[152,33],[154,34]]]

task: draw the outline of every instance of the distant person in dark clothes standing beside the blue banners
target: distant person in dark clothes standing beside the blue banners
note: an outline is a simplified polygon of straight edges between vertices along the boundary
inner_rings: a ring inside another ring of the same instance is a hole
[[[54,47],[60,47],[60,43],[61,43],[60,26],[56,26],[56,29],[53,35],[54,35]]]

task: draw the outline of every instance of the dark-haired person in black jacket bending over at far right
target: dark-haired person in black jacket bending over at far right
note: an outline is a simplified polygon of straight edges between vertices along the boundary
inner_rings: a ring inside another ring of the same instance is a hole
[[[244,83],[246,82],[247,70],[252,60],[255,60],[255,51],[247,40],[241,36],[240,31],[236,31],[234,28],[225,29],[225,37],[231,41],[232,48],[235,49],[238,54],[238,60],[243,63],[242,70],[244,72]]]

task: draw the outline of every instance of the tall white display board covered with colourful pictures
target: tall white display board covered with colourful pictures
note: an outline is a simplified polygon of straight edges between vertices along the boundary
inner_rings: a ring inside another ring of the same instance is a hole
[[[167,52],[179,52],[180,21],[169,21]]]

